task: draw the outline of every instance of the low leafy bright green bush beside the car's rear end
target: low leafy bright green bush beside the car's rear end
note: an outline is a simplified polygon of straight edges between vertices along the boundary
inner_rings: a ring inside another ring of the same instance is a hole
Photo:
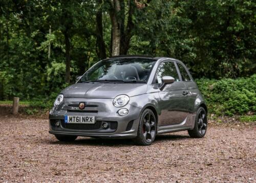
[[[249,78],[196,80],[210,113],[244,115],[256,111],[256,74]]]

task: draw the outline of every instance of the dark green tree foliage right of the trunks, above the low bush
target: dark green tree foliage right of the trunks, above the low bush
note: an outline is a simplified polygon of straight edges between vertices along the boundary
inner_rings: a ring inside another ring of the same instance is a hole
[[[185,62],[195,78],[241,77],[256,69],[256,3],[236,0],[153,0],[138,16],[131,54]]]

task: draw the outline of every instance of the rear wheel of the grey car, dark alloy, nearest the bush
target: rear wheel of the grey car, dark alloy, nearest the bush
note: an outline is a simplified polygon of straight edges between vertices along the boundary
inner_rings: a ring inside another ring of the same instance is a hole
[[[203,138],[207,130],[207,113],[203,107],[199,107],[195,118],[193,130],[188,130],[191,138]]]

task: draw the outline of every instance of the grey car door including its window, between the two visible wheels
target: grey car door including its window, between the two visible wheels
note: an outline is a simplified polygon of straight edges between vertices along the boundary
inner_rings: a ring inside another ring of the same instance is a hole
[[[181,81],[177,66],[173,61],[163,61],[159,64],[156,72],[156,80],[162,83],[163,76],[172,76],[175,82],[167,84],[159,91],[159,107],[161,110],[159,126],[182,123],[187,115],[187,89]]]

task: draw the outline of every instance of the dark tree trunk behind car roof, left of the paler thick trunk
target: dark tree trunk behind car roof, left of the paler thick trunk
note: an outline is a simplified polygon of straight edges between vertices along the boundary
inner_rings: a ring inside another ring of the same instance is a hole
[[[102,3],[102,0],[100,1]],[[98,58],[100,60],[106,58],[106,49],[105,49],[105,43],[103,40],[103,26],[102,26],[102,8],[100,7],[96,14],[96,24],[97,24],[97,47],[98,50],[96,50],[98,54]]]

